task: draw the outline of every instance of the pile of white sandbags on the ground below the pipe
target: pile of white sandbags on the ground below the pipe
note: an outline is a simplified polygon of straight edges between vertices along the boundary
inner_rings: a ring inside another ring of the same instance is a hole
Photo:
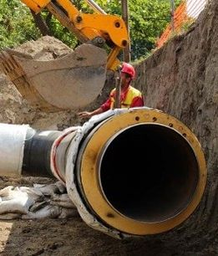
[[[69,218],[76,214],[61,182],[34,184],[34,187],[8,186],[0,190],[0,219]]]

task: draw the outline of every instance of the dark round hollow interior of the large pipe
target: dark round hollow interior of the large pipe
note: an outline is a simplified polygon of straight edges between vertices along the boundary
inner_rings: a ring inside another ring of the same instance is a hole
[[[104,151],[99,182],[114,209],[144,223],[165,221],[190,203],[198,182],[195,153],[163,125],[135,125]]]

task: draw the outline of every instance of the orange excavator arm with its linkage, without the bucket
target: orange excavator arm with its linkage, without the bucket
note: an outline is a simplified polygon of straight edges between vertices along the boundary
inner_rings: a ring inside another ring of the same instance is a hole
[[[95,13],[81,13],[70,0],[22,0],[34,13],[48,9],[64,27],[74,33],[81,43],[94,41],[101,46],[103,40],[112,48],[107,69],[116,69],[117,55],[129,42],[124,20],[115,15],[107,15],[93,0],[86,0]]]

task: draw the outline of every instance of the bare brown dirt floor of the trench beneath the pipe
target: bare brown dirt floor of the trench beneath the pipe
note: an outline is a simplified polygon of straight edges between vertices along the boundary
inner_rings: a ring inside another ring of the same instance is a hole
[[[0,188],[52,182],[55,180],[39,177],[1,177]],[[89,228],[79,215],[68,219],[0,221],[0,255],[217,255],[217,233],[193,233],[190,223],[168,233],[118,240]]]

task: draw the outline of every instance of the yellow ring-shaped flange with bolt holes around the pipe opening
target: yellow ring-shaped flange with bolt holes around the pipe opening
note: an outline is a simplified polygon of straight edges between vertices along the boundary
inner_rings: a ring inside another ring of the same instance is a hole
[[[194,151],[199,167],[198,181],[189,204],[175,216],[158,222],[139,221],[124,216],[105,198],[99,182],[99,159],[104,152],[104,146],[120,131],[139,124],[161,125],[184,138]],[[206,182],[205,157],[195,135],[179,120],[160,110],[132,109],[104,121],[86,141],[81,157],[80,182],[90,211],[93,211],[109,227],[132,235],[162,233],[184,222],[199,204]]]

